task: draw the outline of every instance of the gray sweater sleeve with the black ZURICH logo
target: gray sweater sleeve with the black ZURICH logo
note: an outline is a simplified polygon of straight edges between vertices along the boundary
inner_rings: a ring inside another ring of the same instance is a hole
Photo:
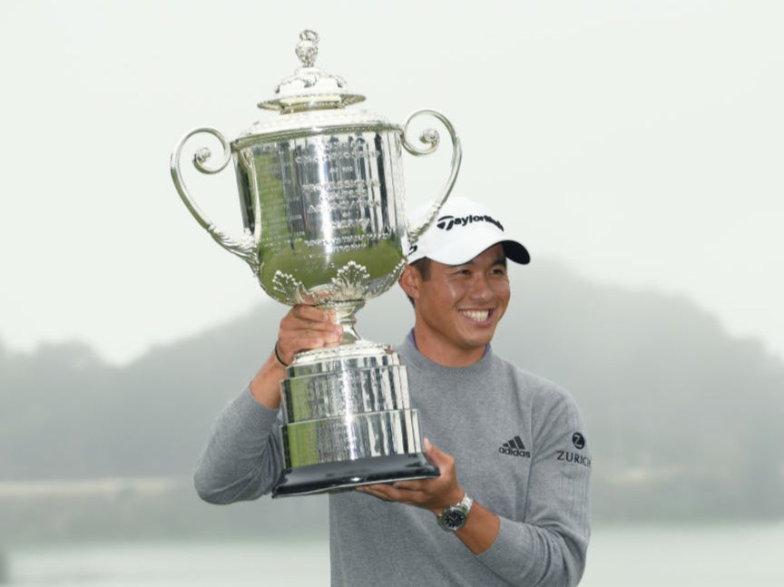
[[[532,414],[524,521],[501,518],[495,543],[477,558],[513,585],[573,587],[590,536],[591,455],[572,398],[561,392],[548,404]]]

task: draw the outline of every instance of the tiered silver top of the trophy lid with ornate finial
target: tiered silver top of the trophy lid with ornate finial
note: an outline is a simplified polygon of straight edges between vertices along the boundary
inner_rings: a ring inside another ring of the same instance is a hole
[[[260,108],[281,114],[311,110],[343,108],[365,100],[365,96],[346,91],[346,81],[339,75],[325,73],[315,66],[319,54],[319,34],[305,30],[299,34],[295,53],[302,66],[275,88],[275,97],[260,102]]]

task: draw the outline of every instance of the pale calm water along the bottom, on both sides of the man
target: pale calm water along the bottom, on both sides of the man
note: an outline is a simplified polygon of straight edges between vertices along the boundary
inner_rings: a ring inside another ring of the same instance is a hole
[[[581,587],[781,587],[784,523],[603,527]],[[328,586],[319,542],[112,543],[11,550],[11,587]]]

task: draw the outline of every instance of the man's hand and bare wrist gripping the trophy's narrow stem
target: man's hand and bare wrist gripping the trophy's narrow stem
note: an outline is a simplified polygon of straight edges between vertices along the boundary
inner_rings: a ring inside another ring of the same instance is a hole
[[[276,348],[280,361],[290,365],[299,351],[335,347],[343,340],[343,328],[335,323],[335,312],[314,306],[295,306],[280,320]],[[280,405],[280,380],[286,377],[285,366],[270,352],[259,373],[250,382],[250,392],[263,406]]]

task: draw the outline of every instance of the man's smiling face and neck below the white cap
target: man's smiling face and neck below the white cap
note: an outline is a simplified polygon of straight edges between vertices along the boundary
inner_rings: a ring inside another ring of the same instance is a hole
[[[468,365],[479,358],[509,304],[506,256],[500,244],[464,265],[430,262],[429,279],[418,281],[417,346],[442,365]]]

